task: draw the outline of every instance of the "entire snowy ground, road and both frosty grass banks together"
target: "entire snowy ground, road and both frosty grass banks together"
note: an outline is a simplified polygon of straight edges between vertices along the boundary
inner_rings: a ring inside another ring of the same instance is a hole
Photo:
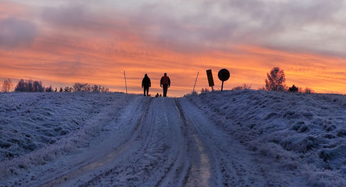
[[[346,97],[0,94],[0,186],[345,186]]]

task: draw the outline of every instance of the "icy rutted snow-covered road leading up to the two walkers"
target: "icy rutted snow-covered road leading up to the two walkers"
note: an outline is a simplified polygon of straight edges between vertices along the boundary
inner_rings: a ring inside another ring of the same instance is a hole
[[[185,98],[135,97],[110,135],[29,174],[21,186],[306,186],[268,168]],[[31,177],[30,177],[31,176]],[[35,176],[35,177],[32,177]]]

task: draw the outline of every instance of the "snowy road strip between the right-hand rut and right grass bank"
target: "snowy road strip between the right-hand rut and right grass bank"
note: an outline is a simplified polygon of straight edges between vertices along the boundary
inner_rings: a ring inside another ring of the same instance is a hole
[[[251,152],[217,128],[185,98],[179,99],[182,113],[201,139],[210,158],[210,186],[271,186]],[[273,177],[271,177],[273,178]]]

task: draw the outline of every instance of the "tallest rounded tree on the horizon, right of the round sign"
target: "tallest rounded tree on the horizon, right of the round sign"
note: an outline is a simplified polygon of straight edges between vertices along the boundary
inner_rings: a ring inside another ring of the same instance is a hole
[[[266,76],[268,77],[266,79],[266,90],[268,91],[285,91],[286,85],[285,85],[285,75],[284,70],[280,69],[279,67],[274,67],[271,69],[271,73],[266,73]]]

